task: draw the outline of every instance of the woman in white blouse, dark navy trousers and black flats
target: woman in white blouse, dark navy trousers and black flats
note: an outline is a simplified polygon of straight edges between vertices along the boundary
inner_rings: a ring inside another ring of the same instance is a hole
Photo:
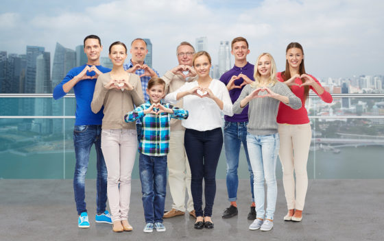
[[[185,151],[191,167],[191,192],[196,212],[195,229],[213,228],[211,220],[216,193],[216,168],[223,146],[223,118],[232,116],[232,101],[226,86],[209,76],[211,56],[200,51],[193,57],[193,67],[198,75],[196,81],[187,82],[175,92],[168,94],[165,101],[175,103],[183,98],[183,107],[189,111],[186,128]],[[205,207],[202,210],[202,181],[204,178]],[[204,216],[204,218],[203,218]]]

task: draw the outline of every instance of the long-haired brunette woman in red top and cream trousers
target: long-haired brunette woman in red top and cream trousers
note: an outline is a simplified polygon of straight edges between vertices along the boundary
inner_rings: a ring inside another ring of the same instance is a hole
[[[307,160],[312,136],[304,103],[308,99],[309,90],[313,90],[326,103],[332,102],[332,96],[315,77],[305,72],[304,51],[298,42],[291,42],[287,46],[286,59],[285,71],[278,73],[277,77],[301,99],[302,107],[293,110],[280,103],[276,118],[280,135],[279,157],[283,166],[283,184],[288,207],[284,220],[301,221],[307,194]],[[296,173],[296,188],[293,170]]]

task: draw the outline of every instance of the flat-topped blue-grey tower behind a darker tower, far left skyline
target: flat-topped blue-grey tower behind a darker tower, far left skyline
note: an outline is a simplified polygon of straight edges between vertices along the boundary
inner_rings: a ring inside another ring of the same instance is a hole
[[[44,47],[27,46],[27,70],[25,73],[24,92],[34,93],[36,90],[36,58],[44,53]]]

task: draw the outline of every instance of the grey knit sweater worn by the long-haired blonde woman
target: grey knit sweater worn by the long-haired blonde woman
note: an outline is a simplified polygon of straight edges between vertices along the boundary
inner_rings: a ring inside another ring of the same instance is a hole
[[[301,101],[295,94],[289,90],[288,86],[277,81],[274,86],[268,87],[276,94],[283,95],[289,98],[288,106],[293,110],[298,110],[301,107]],[[250,94],[254,88],[249,84],[246,85],[237,101],[233,104],[233,113],[239,114],[243,111],[240,107],[240,101]],[[259,95],[267,94],[267,92],[259,92]],[[278,112],[278,105],[280,101],[271,97],[255,98],[252,99],[248,105],[248,125],[247,130],[252,135],[272,135],[278,132],[276,116]],[[244,106],[245,107],[245,106]]]

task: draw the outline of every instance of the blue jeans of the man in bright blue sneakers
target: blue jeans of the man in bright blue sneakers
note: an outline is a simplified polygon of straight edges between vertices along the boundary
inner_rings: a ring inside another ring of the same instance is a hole
[[[95,144],[97,155],[96,205],[97,213],[106,211],[107,201],[107,168],[101,151],[101,125],[75,125],[73,129],[73,144],[75,146],[75,174],[73,175],[73,191],[77,214],[86,211],[85,176],[88,169],[89,153]]]

